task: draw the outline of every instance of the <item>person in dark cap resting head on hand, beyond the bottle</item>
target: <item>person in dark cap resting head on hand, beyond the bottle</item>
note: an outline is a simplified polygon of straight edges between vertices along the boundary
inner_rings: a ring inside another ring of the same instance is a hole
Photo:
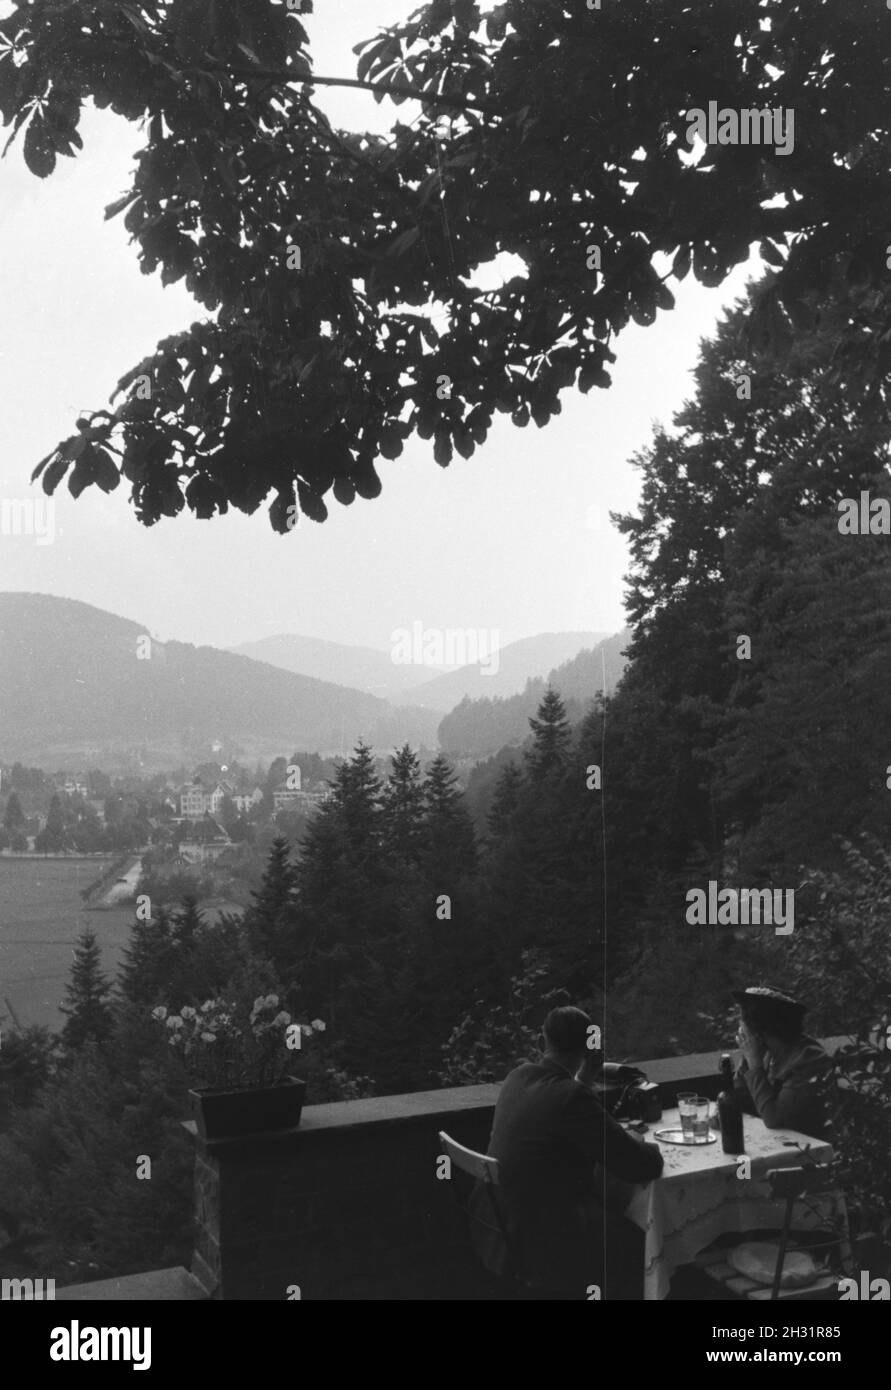
[[[735,1088],[744,1109],[760,1115],[767,1129],[794,1129],[821,1138],[826,1127],[826,1080],[831,1059],[802,1031],[803,1005],[769,986],[734,992],[742,1059]]]

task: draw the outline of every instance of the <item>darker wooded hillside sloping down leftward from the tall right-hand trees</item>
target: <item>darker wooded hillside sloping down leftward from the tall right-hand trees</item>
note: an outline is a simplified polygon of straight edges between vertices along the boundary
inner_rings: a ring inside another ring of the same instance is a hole
[[[527,681],[520,695],[461,701],[439,724],[442,751],[455,758],[489,758],[509,744],[520,746],[548,685],[563,698],[570,721],[581,719],[603,689],[605,674],[607,694],[614,692],[627,666],[623,651],[630,641],[630,631],[616,632],[555,667],[546,680]]]

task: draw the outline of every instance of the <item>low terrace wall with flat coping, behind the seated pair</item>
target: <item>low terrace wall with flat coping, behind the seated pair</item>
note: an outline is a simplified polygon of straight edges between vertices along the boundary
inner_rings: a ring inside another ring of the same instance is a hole
[[[831,1047],[837,1040],[827,1040]],[[712,1098],[719,1052],[638,1063],[663,1108]],[[196,1144],[193,1275],[214,1298],[492,1298],[456,1200],[436,1179],[438,1133],[485,1151],[498,1086],[306,1106],[297,1129]]]

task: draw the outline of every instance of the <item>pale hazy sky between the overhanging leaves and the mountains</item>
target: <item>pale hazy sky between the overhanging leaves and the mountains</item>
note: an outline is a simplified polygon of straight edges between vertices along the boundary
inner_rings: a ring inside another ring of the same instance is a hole
[[[353,76],[352,46],[414,7],[320,3],[307,19],[316,71]],[[366,93],[317,95],[341,125],[385,129],[395,114],[413,115]],[[101,409],[158,338],[203,317],[182,285],[163,289],[158,275],[140,274],[122,218],[103,221],[128,188],[140,132],[90,111],[82,135],[81,156],[60,160],[46,181],[25,168],[21,140],[0,163],[0,500],[29,496],[31,470],[74,432],[75,416]],[[0,534],[0,588],[82,599],[161,639],[221,646],[300,632],[389,648],[395,628],[418,620],[495,630],[502,645],[541,631],[616,630],[627,556],[607,512],[635,506],[631,455],[689,395],[701,338],[755,270],[752,261],[720,291],[688,277],[673,313],[620,336],[613,386],[563,392],[563,414],[545,430],[496,414],[485,446],[445,470],[432,442],[410,441],[399,461],[378,463],[377,500],[346,509],[329,496],[324,525],[303,520],[279,537],[263,507],[146,530],[126,484],[108,498],[89,488],[79,502],[63,485],[51,545]]]

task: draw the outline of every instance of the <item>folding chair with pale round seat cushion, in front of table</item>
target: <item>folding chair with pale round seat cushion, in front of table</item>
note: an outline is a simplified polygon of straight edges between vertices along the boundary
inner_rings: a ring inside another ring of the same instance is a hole
[[[766,1302],[769,1300],[792,1302],[809,1302],[816,1300],[831,1301],[833,1293],[838,1293],[838,1280],[844,1276],[845,1236],[840,1232],[833,1232],[833,1234],[827,1237],[826,1232],[823,1232],[815,1233],[815,1238],[810,1240],[810,1233],[808,1232],[792,1232],[792,1216],[796,1201],[806,1204],[806,1197],[813,1197],[817,1193],[828,1193],[834,1186],[830,1169],[824,1165],[816,1163],[809,1168],[771,1168],[769,1169],[766,1177],[770,1183],[770,1195],[785,1202],[783,1211],[783,1226],[778,1233],[777,1264],[774,1266],[771,1287],[767,1289],[765,1284],[759,1284],[753,1279],[748,1279],[745,1275],[741,1275],[738,1269],[734,1269],[734,1266],[727,1261],[728,1245],[724,1241],[716,1241],[703,1250],[696,1258],[696,1266],[703,1275],[714,1283],[721,1284],[721,1287],[728,1290],[731,1294],[735,1294],[739,1298],[749,1298],[755,1302]],[[777,1233],[770,1232],[765,1234],[776,1238]],[[790,1244],[792,1236],[796,1236],[799,1241],[796,1245]],[[834,1255],[834,1264],[838,1269],[833,1269],[830,1272],[827,1262],[824,1265],[824,1270],[817,1272],[816,1277],[809,1284],[784,1289],[783,1269],[787,1255],[791,1251],[803,1252],[812,1258],[816,1257],[817,1259],[824,1252],[830,1258]]]

